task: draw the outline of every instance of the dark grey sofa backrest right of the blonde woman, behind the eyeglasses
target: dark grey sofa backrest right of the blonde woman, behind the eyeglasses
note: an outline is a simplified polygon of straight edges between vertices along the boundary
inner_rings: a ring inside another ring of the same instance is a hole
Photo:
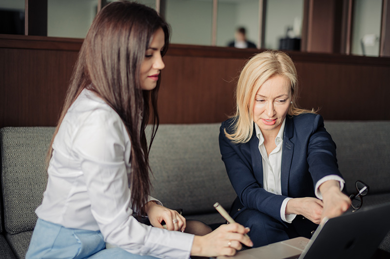
[[[371,194],[390,192],[390,121],[325,121],[325,128],[349,193],[356,180],[368,184]]]

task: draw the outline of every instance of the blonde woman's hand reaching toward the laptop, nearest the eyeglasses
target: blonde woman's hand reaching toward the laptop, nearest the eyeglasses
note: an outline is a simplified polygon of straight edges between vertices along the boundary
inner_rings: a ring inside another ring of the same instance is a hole
[[[338,181],[330,180],[321,184],[319,187],[322,194],[324,207],[322,209],[321,221],[326,217],[328,219],[338,217],[351,206],[351,200],[347,195],[341,192]]]

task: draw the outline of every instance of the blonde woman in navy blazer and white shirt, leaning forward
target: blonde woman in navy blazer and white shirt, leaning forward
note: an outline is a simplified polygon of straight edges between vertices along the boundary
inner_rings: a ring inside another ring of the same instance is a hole
[[[237,193],[231,215],[251,229],[254,247],[310,238],[324,217],[350,206],[335,144],[322,117],[297,107],[296,70],[284,52],[262,52],[243,68],[235,116],[219,146]]]

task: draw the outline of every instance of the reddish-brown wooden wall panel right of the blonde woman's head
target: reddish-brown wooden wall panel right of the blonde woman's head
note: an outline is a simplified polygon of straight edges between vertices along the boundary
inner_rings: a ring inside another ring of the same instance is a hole
[[[302,107],[320,108],[326,120],[389,120],[390,68],[297,63]]]

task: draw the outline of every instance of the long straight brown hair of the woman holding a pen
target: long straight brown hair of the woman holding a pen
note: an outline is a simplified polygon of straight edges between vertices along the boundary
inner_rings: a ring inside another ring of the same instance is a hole
[[[144,213],[143,206],[151,190],[149,150],[158,128],[157,93],[160,79],[153,90],[142,90],[140,66],[154,33],[162,28],[167,52],[169,25],[152,8],[142,4],[117,1],[105,6],[95,17],[78,54],[70,86],[50,147],[69,107],[87,88],[98,94],[120,116],[131,140],[132,208]],[[145,127],[152,113],[152,135],[149,148]],[[142,121],[139,119],[142,115]],[[102,139],[102,141],[104,141]],[[52,154],[50,149],[47,158]]]

